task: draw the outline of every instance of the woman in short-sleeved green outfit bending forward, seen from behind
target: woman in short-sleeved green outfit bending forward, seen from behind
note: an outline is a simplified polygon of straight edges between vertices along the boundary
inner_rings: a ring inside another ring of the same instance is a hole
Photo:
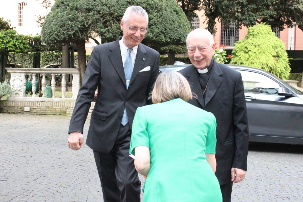
[[[164,72],[151,93],[154,104],[136,111],[130,153],[147,176],[144,202],[222,201],[215,116],[187,103],[192,96],[180,73]]]

